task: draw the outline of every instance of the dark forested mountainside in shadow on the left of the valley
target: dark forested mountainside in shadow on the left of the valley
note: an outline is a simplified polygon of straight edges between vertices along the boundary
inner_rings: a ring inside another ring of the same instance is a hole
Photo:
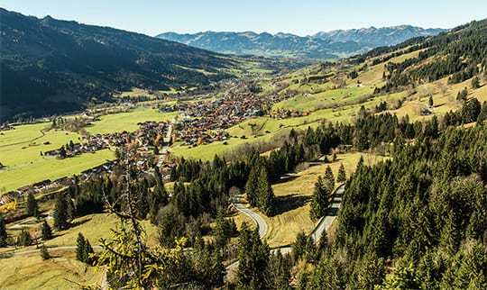
[[[0,9],[1,119],[108,101],[133,86],[205,86],[233,62],[176,42]]]

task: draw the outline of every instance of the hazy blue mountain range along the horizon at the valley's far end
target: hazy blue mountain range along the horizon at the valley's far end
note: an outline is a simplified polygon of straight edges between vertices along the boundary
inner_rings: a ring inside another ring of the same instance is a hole
[[[411,25],[318,32],[311,36],[267,32],[198,32],[157,35],[205,50],[236,55],[300,59],[339,59],[381,46],[395,45],[410,38],[433,36],[446,29],[423,29]]]

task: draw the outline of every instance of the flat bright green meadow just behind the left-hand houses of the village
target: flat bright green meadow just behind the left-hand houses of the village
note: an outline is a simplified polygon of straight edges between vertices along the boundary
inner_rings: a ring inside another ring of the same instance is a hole
[[[114,113],[100,117],[101,121],[93,122],[87,132],[91,134],[113,133],[117,131],[135,131],[138,122],[168,121],[179,113],[159,113],[156,109],[137,108],[129,113]]]

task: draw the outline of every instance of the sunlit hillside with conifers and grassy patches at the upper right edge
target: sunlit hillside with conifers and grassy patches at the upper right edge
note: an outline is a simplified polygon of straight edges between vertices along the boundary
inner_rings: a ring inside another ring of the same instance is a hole
[[[460,83],[484,73],[487,68],[487,20],[468,23],[436,37],[417,38],[396,47],[372,50],[358,59],[396,51],[374,59],[373,64],[378,64],[400,54],[398,51],[405,46],[410,47],[402,53],[422,51],[417,58],[385,65],[384,78],[387,83],[381,87],[381,91],[398,91],[409,85],[416,86],[443,77],[449,77],[449,84]]]

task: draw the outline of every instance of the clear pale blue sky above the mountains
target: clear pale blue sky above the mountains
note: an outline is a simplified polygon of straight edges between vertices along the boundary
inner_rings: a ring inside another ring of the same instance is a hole
[[[309,35],[400,24],[452,28],[487,18],[487,0],[0,0],[0,6],[152,36],[205,31]]]

